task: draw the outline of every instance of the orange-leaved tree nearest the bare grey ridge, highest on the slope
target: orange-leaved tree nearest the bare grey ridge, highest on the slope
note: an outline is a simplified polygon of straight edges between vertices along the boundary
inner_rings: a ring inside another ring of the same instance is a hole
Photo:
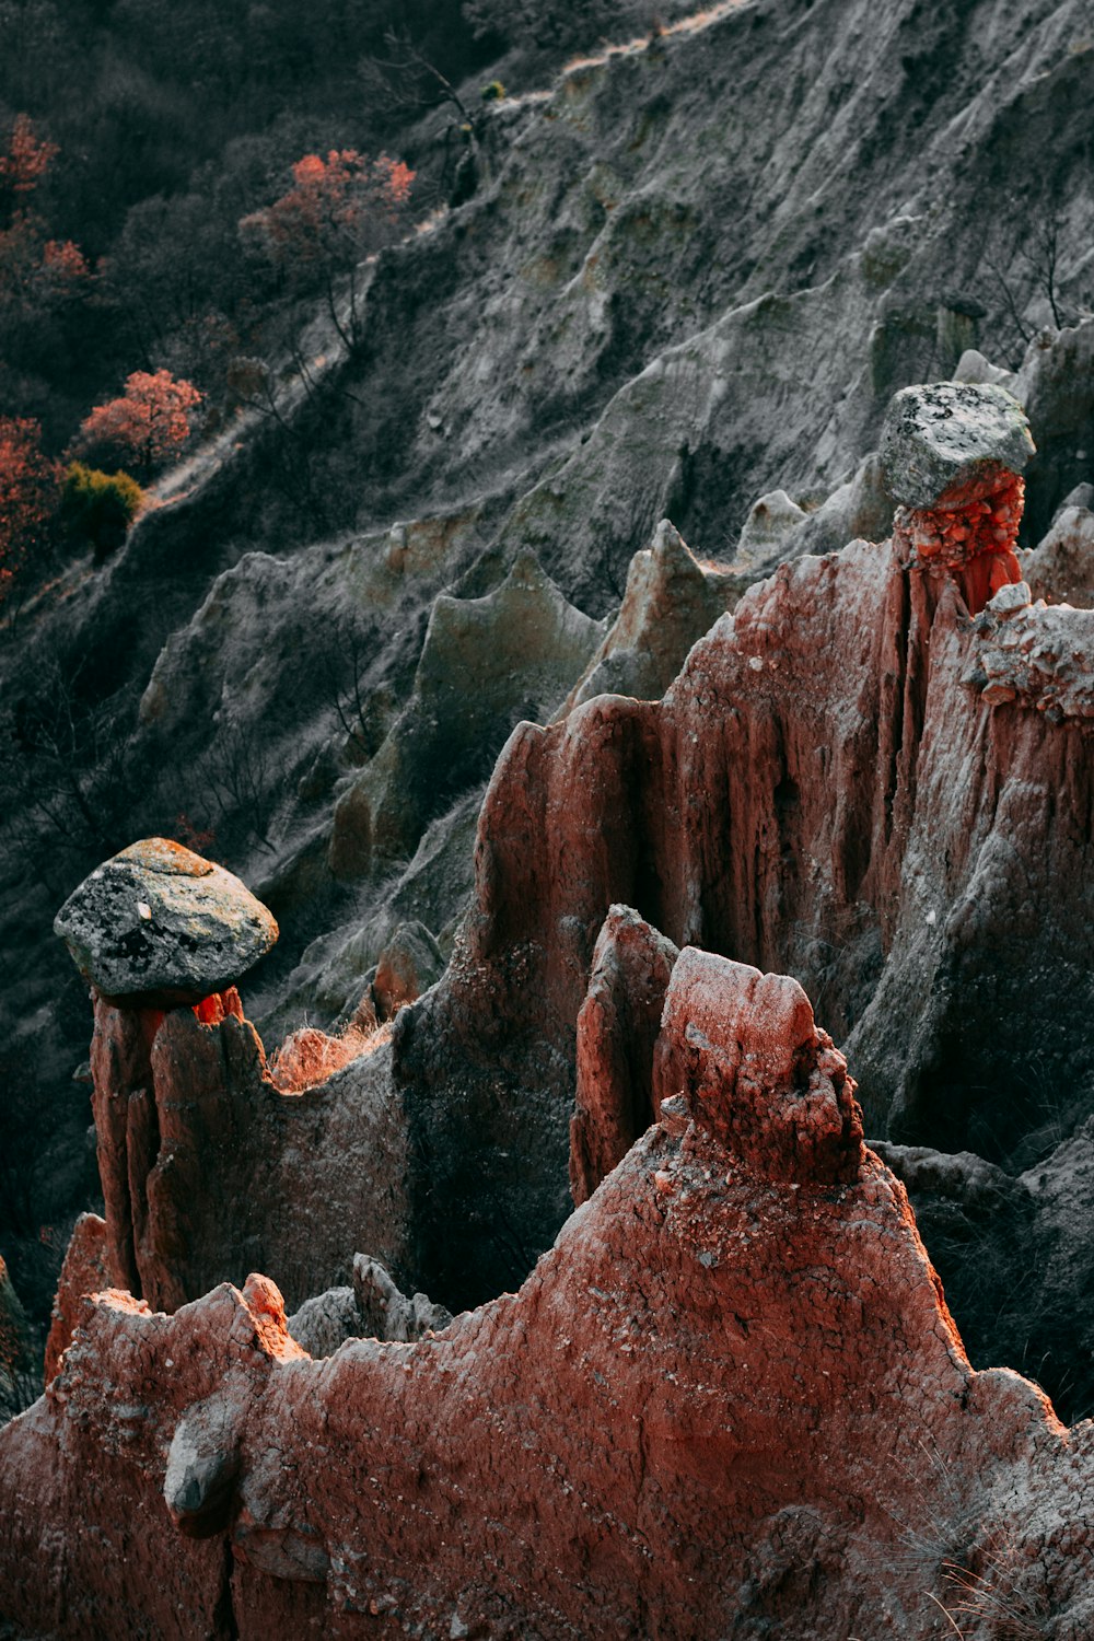
[[[243,243],[266,258],[297,290],[323,290],[338,335],[359,341],[358,264],[390,245],[407,225],[415,172],[400,159],[369,159],[356,148],[305,154],[294,187],[239,223]],[[335,284],[348,276],[340,307]]]

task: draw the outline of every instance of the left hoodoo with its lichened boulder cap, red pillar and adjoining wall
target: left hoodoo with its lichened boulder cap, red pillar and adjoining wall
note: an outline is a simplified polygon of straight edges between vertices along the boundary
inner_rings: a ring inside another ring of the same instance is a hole
[[[89,1216],[77,1227],[51,1367],[75,1298],[103,1270],[174,1311],[256,1264],[294,1301],[348,1273],[359,1246],[400,1268],[405,1134],[387,1045],[361,1039],[372,1052],[336,1076],[317,1062],[321,1086],[277,1086],[231,985],[277,926],[236,878],[144,840],[92,873],[57,932],[100,988],[90,1063],[105,1229]]]

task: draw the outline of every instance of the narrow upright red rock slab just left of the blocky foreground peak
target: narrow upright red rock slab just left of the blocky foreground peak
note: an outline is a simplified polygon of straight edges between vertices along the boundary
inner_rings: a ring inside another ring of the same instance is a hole
[[[630,906],[612,906],[577,1016],[577,1096],[569,1122],[569,1188],[592,1196],[658,1116],[653,1045],[677,950]]]

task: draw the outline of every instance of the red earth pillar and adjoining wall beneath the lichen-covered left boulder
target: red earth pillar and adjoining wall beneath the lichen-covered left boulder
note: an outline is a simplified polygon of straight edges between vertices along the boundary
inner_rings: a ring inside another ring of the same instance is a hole
[[[284,1095],[235,990],[166,1014],[95,1003],[110,1282],[172,1311],[272,1270],[294,1305],[358,1249],[405,1265],[405,1134],[377,1049]]]

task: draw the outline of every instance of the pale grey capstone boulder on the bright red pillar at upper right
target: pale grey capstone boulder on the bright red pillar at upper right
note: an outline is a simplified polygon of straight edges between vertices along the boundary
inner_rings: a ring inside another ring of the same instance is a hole
[[[981,479],[989,492],[1002,471],[1020,473],[1032,455],[1022,405],[994,382],[904,387],[881,435],[886,484],[905,507],[945,505]]]

